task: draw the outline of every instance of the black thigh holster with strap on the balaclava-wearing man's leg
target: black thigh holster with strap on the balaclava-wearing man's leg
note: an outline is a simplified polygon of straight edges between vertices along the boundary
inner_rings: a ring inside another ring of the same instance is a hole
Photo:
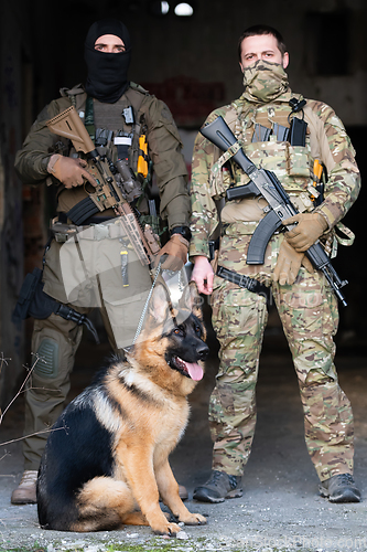
[[[58,302],[56,299],[45,294],[43,290],[42,270],[34,268],[32,274],[28,274],[21,287],[19,299],[12,314],[12,322],[18,323],[33,317],[37,320],[44,320],[52,314],[72,320],[78,326],[85,325],[99,343],[98,333],[93,322],[85,315]]]

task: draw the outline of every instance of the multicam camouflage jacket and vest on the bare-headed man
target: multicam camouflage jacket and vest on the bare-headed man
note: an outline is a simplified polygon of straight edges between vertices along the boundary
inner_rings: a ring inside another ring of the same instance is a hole
[[[267,104],[251,103],[242,95],[230,105],[214,110],[206,121],[211,123],[222,115],[255,164],[273,171],[299,211],[320,212],[331,231],[345,216],[359,193],[360,177],[355,150],[343,123],[330,106],[307,99],[303,114],[293,115],[289,106],[293,97],[302,99],[301,95],[290,89]],[[307,123],[304,147],[281,141],[274,132],[276,124],[289,127],[293,116],[304,116]],[[268,141],[258,141],[257,129],[265,127],[270,129],[270,137]],[[327,171],[324,201],[316,208],[310,193],[316,178],[313,172],[315,159]],[[223,152],[198,134],[194,146],[191,187],[191,257],[209,257],[208,238],[219,224],[218,200],[225,197],[231,182],[240,185],[249,181],[235,162],[230,161],[228,167],[228,163],[223,164]],[[265,200],[259,199],[228,202],[220,215],[222,223],[229,226],[227,234],[250,237],[259,220],[265,216],[263,206]]]

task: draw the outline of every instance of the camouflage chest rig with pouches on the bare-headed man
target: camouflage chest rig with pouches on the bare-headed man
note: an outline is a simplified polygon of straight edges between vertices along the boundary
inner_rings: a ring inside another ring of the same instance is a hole
[[[250,160],[259,169],[272,171],[284,190],[299,198],[302,204],[299,205],[300,211],[312,210],[322,197],[316,201],[320,192],[314,185],[315,160],[311,155],[307,124],[303,118],[305,100],[291,94],[284,94],[282,98],[282,102],[261,106],[253,106],[241,98],[234,102],[236,117],[231,128]],[[218,162],[220,164],[220,159]],[[218,173],[216,170],[217,177]],[[247,174],[230,160],[223,163],[218,180],[217,192],[233,183],[242,185],[249,182]]]

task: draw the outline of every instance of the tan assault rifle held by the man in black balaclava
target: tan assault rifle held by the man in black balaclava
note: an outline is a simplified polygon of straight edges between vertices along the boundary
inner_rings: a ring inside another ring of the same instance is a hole
[[[119,171],[119,167],[111,167],[111,163],[102,158],[95,148],[87,129],[80,120],[74,106],[68,107],[47,121],[48,129],[57,136],[63,136],[72,140],[76,151],[83,151],[88,160],[87,170],[97,182],[97,187],[89,195],[77,203],[67,216],[75,224],[83,224],[89,216],[106,209],[114,209],[120,216],[123,230],[129,237],[141,264],[150,265],[151,257],[160,250],[152,229],[145,224],[141,227],[133,208],[126,200],[123,190],[123,179],[118,182],[112,174]],[[121,171],[119,171],[121,173]],[[131,174],[129,176],[131,179]],[[120,185],[121,182],[121,185]]]

